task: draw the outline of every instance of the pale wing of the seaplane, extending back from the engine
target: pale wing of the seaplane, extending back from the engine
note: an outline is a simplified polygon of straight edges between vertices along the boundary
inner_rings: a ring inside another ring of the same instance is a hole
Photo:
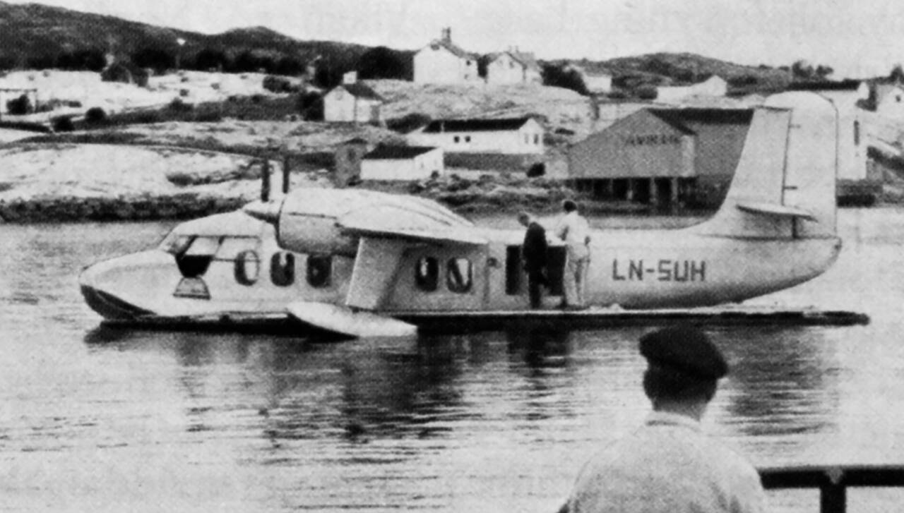
[[[366,238],[392,238],[410,241],[483,245],[486,238],[473,225],[452,222],[429,212],[412,212],[395,205],[353,210],[336,219],[346,235]]]

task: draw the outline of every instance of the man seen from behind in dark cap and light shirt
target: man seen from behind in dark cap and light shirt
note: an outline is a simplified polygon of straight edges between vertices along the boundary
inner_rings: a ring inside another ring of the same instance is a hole
[[[633,434],[591,457],[560,511],[763,511],[756,469],[701,431],[717,382],[728,373],[720,351],[702,331],[675,326],[643,336],[640,353],[653,412]]]

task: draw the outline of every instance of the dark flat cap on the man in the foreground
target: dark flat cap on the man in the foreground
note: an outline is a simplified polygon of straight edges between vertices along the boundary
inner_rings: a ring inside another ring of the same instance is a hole
[[[640,354],[650,363],[696,378],[719,379],[729,364],[705,333],[688,324],[653,331],[640,338]]]

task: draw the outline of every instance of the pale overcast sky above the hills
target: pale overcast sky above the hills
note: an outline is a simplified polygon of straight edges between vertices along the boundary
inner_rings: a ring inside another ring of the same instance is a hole
[[[21,0],[5,0],[24,4]],[[452,28],[468,51],[541,59],[691,51],[741,64],[805,59],[836,78],[904,61],[900,0],[42,0],[201,33],[263,25],[302,40],[416,49]]]

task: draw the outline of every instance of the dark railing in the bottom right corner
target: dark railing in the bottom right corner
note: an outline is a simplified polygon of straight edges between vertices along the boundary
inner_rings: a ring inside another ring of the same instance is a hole
[[[843,465],[759,469],[763,488],[818,488],[822,513],[844,513],[849,487],[904,487],[904,466]]]

